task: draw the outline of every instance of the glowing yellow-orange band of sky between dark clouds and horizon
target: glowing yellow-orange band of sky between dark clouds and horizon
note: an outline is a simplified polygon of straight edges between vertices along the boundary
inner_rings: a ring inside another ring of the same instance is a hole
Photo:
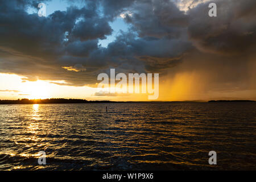
[[[184,72],[159,82],[159,101],[184,101],[184,100],[255,100],[253,90],[218,92],[205,92],[207,78],[204,73]],[[98,93],[97,84],[91,86],[57,85],[51,82],[57,80],[27,81],[26,77],[0,73],[0,100],[18,100],[27,98],[75,98],[85,100],[109,101],[148,101],[148,94],[122,93],[122,88],[115,87],[116,93]],[[200,82],[199,82],[200,80]],[[116,82],[117,83],[117,82]],[[127,89],[128,89],[127,85]],[[108,90],[109,88],[104,88]],[[103,89],[103,90],[104,90]],[[240,97],[238,97],[240,96]]]

